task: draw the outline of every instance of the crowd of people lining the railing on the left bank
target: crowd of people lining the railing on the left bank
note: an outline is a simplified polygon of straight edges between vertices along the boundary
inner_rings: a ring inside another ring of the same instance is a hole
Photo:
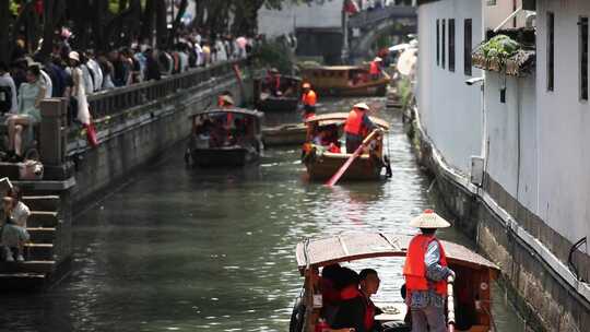
[[[198,29],[182,32],[169,49],[134,42],[107,52],[73,50],[71,39],[72,34],[62,28],[46,57],[27,52],[23,40],[17,40],[11,61],[0,62],[0,114],[8,131],[3,161],[23,161],[24,145],[33,140],[33,128],[40,121],[44,98],[67,98],[70,122],[87,126],[88,94],[245,59],[255,45],[255,39],[243,36],[204,38]]]

